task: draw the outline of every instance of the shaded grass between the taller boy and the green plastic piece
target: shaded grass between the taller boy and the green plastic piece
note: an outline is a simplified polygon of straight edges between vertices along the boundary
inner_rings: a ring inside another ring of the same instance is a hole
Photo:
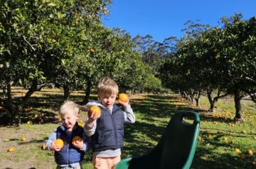
[[[132,109],[140,120],[124,127],[124,141],[128,143],[123,148],[123,157],[139,156],[149,152],[160,140],[171,116],[181,110],[188,110],[186,105],[176,105],[166,95],[149,95],[143,102],[134,99]],[[144,135],[143,138],[138,138]],[[146,138],[145,138],[146,137]],[[148,139],[147,139],[148,138]]]

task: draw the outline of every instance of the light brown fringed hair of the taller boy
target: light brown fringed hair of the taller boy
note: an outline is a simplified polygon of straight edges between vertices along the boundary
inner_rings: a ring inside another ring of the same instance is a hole
[[[97,94],[118,94],[118,86],[110,77],[102,77],[97,84]]]

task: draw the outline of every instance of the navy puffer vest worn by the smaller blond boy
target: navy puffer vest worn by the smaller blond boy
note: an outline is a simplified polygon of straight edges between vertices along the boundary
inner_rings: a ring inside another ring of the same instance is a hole
[[[57,138],[64,141],[64,147],[60,151],[55,151],[54,157],[55,162],[58,165],[67,165],[72,163],[80,163],[85,155],[84,151],[80,151],[79,148],[75,148],[72,145],[72,140],[75,136],[80,136],[82,138],[82,133],[84,130],[78,123],[75,124],[75,129],[72,133],[68,133],[65,126],[59,126],[57,128]]]

